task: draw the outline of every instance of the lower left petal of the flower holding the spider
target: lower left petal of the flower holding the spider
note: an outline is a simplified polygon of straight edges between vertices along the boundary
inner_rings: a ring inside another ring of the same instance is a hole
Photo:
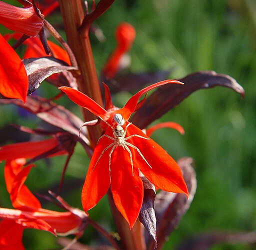
[[[112,130],[110,127],[109,129],[106,130],[106,133],[112,136]],[[82,206],[85,212],[96,205],[109,187],[110,176],[108,158],[111,147],[102,154],[96,165],[95,163],[98,160],[101,152],[112,142],[113,140],[104,136],[98,141],[94,149],[82,187]]]

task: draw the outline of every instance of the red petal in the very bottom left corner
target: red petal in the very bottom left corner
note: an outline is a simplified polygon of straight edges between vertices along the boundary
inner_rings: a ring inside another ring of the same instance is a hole
[[[2,221],[0,221],[0,249],[23,250],[23,229],[23,226],[16,224],[13,220],[3,219]]]

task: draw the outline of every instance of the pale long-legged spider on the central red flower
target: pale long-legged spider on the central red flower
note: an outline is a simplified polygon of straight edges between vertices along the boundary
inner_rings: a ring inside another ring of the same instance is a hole
[[[100,117],[99,117],[100,118]],[[100,118],[101,120],[103,120],[102,118]],[[131,170],[132,170],[132,176],[133,176],[133,161],[132,161],[132,154],[131,154],[131,151],[130,149],[128,148],[128,146],[134,148],[137,150],[137,152],[139,153],[139,155],[142,157],[142,159],[147,163],[147,165],[152,168],[149,163],[146,161],[146,159],[144,158],[144,156],[142,155],[142,153],[140,152],[140,150],[132,145],[131,143],[127,142],[126,140],[132,138],[132,137],[139,137],[139,138],[142,138],[142,139],[146,139],[148,140],[149,138],[146,138],[146,137],[143,137],[141,135],[138,135],[138,134],[132,134],[132,135],[129,135],[127,137],[125,137],[125,134],[126,134],[126,131],[127,131],[127,127],[131,124],[131,122],[129,122],[125,128],[123,129],[123,127],[121,125],[124,124],[124,119],[123,117],[121,116],[121,114],[117,113],[113,116],[113,119],[115,120],[115,122],[117,123],[117,125],[113,128],[107,121],[103,120],[109,127],[112,128],[112,131],[113,131],[113,136],[114,137],[111,137],[107,134],[103,134],[102,136],[99,137],[98,141],[103,138],[103,137],[107,137],[111,140],[113,140],[113,142],[111,144],[109,144],[106,148],[103,149],[103,151],[101,152],[101,154],[99,155],[93,169],[95,168],[96,164],[98,163],[99,159],[101,158],[101,156],[103,155],[103,153],[109,148],[109,147],[112,147],[110,152],[109,152],[109,160],[108,160],[108,166],[109,166],[109,174],[110,174],[110,165],[111,165],[111,154],[114,150],[115,147],[117,146],[122,146],[122,148],[125,150],[128,151],[129,155],[130,155],[130,164],[131,164]]]

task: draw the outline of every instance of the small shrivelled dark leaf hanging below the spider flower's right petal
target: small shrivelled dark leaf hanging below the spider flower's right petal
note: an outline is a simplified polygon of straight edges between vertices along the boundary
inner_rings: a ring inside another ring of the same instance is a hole
[[[155,187],[145,177],[141,177],[141,179],[143,181],[144,193],[138,219],[144,225],[150,238],[155,243],[154,247],[156,247],[156,218],[154,213]]]

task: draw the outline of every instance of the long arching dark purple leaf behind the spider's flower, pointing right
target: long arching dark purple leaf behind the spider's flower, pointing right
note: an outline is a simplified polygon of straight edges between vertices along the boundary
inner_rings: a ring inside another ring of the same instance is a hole
[[[166,84],[158,87],[144,102],[143,106],[136,111],[132,122],[139,128],[145,128],[155,119],[161,117],[168,110],[172,109],[189,94],[201,88],[214,86],[229,87],[244,95],[243,88],[226,74],[217,74],[214,71],[199,71],[188,74],[178,79],[184,82],[180,84]]]

